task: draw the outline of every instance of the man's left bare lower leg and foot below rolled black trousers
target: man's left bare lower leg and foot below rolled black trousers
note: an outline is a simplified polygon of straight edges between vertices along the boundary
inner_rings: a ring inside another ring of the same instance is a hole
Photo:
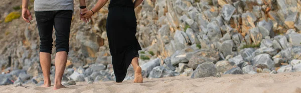
[[[50,67],[51,67],[51,55],[48,52],[40,52],[40,64],[44,76],[44,84],[42,87],[49,87],[50,81]]]

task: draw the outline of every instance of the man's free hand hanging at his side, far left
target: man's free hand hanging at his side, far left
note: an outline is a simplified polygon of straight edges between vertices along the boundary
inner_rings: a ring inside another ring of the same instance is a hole
[[[30,20],[33,20],[30,10],[28,9],[28,0],[22,0],[22,17],[28,23],[31,23]]]

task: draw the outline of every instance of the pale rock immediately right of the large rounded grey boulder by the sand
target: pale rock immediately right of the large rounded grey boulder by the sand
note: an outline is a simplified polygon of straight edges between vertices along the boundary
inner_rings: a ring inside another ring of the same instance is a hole
[[[233,65],[227,60],[218,61],[215,66],[220,73],[224,73],[233,67]]]

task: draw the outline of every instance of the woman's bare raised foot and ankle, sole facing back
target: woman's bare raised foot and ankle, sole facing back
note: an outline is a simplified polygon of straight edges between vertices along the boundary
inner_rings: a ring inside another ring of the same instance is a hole
[[[143,77],[142,77],[142,73],[141,73],[142,70],[138,63],[138,57],[134,57],[131,61],[131,64],[133,65],[133,68],[135,71],[134,82],[136,82],[136,83],[143,82]]]

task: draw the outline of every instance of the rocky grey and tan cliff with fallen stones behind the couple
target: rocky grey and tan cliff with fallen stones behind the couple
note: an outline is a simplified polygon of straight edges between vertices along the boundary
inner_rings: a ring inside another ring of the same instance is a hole
[[[74,2],[63,80],[114,80],[106,36],[109,3],[84,23]],[[86,2],[91,8],[97,0]],[[0,3],[6,8],[0,10],[0,85],[43,83],[35,19],[28,24],[18,17],[19,0]],[[144,77],[301,71],[300,0],[144,0],[135,12]],[[131,67],[126,79],[133,79]]]

